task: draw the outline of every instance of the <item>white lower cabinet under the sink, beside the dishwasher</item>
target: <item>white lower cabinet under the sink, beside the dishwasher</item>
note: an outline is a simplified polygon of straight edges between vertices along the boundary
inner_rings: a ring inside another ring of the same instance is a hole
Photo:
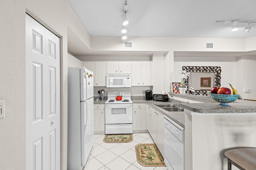
[[[164,155],[164,115],[150,106],[146,106],[147,127],[154,143]]]

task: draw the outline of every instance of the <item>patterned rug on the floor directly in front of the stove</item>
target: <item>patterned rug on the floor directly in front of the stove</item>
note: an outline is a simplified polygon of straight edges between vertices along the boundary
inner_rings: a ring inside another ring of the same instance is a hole
[[[132,140],[132,134],[105,135],[103,139],[105,143],[129,143]]]

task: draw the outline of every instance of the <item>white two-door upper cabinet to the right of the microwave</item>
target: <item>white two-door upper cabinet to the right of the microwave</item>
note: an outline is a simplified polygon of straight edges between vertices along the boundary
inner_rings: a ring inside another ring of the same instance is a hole
[[[151,62],[132,61],[132,86],[151,86]]]

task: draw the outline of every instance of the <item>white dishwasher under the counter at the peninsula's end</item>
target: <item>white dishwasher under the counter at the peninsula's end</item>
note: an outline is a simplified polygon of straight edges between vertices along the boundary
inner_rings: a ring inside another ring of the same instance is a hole
[[[185,170],[185,129],[164,116],[164,162],[168,170]]]

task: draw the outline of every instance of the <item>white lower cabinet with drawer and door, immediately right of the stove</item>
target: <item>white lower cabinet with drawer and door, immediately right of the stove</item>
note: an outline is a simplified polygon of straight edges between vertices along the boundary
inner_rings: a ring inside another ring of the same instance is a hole
[[[132,105],[132,125],[135,133],[140,133],[146,130],[146,104],[136,103]]]

